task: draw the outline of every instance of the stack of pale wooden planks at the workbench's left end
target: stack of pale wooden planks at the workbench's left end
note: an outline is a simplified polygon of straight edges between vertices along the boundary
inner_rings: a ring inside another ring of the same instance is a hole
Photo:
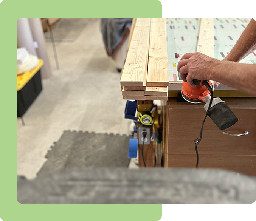
[[[121,76],[123,99],[168,100],[165,18],[137,18]]]

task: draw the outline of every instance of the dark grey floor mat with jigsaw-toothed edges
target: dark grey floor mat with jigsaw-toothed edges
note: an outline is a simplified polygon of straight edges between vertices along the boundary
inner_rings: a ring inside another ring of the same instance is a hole
[[[38,175],[73,167],[128,167],[129,136],[64,131]]]

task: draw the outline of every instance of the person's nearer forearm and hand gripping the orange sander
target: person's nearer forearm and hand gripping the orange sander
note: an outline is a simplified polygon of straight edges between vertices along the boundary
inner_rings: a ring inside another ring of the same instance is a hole
[[[184,54],[177,71],[191,87],[195,87],[193,79],[214,80],[256,95],[256,64],[220,61],[196,52]]]

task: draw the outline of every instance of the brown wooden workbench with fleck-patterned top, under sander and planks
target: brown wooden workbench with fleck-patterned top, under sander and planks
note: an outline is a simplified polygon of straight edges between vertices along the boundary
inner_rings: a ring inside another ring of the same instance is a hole
[[[127,53],[131,36],[136,28],[135,21],[136,19],[132,24]],[[248,18],[214,19],[213,38],[216,59],[222,60],[229,53],[248,22]],[[204,104],[177,102],[182,79],[177,73],[176,66],[183,54],[196,51],[199,26],[200,19],[166,19],[168,100],[162,101],[161,106],[158,107],[161,110],[160,121],[163,127],[163,167],[195,167],[196,155],[193,141],[200,136],[205,115]],[[255,63],[256,54],[250,54],[242,62]],[[124,67],[126,65],[125,63]],[[156,73],[158,73],[157,69]],[[122,87],[123,91],[124,87],[126,86]],[[199,168],[222,168],[256,176],[256,97],[222,84],[214,90],[214,96],[224,100],[239,120],[235,125],[224,130],[224,134],[209,117],[206,119],[202,142],[198,147]],[[126,99],[124,95],[123,97]],[[135,99],[133,97],[130,99]],[[152,100],[137,99],[138,105],[152,103]],[[232,136],[234,134],[244,135]],[[139,166],[144,167],[141,145],[138,146],[138,153]],[[155,142],[144,145],[143,153],[147,167],[155,167]]]

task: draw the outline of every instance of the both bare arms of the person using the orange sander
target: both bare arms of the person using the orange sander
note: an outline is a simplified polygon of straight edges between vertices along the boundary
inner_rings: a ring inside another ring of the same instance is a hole
[[[220,82],[234,87],[237,90],[246,91],[247,93],[255,95],[255,65],[239,63],[237,63],[239,64],[238,66],[237,64],[233,65],[234,62],[239,62],[254,50],[256,50],[256,21],[252,19],[236,45],[221,62],[201,53],[186,53],[178,63],[177,71],[180,73],[183,81],[187,82],[188,80],[191,87],[195,87],[193,78],[199,80],[214,80],[214,88],[216,88],[219,85],[218,82]],[[233,62],[229,63],[228,61]],[[233,70],[234,67],[237,69]],[[214,73],[214,71],[217,72]]]

